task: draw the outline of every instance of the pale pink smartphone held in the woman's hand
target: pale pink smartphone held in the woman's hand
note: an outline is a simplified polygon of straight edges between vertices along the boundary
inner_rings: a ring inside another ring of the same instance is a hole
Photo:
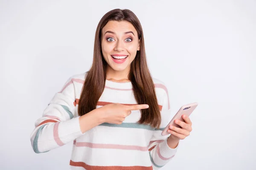
[[[189,115],[195,110],[195,108],[198,106],[198,103],[190,103],[187,105],[183,105],[180,110],[175,114],[175,116],[172,118],[172,120],[169,122],[169,124],[165,127],[165,129],[162,131],[162,136],[165,135],[169,135],[170,133],[167,132],[167,130],[169,129],[170,125],[176,126],[176,127],[180,127],[179,125],[177,125],[174,121],[175,119],[178,119],[182,122],[184,122],[182,115],[185,114],[186,116],[189,117]]]

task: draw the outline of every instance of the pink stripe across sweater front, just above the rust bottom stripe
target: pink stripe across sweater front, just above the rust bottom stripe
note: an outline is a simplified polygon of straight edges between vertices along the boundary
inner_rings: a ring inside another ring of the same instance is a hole
[[[95,143],[89,143],[89,142],[76,142],[76,147],[148,151],[148,147],[141,147],[141,146],[134,146],[134,145],[121,145],[121,144],[95,144]]]

